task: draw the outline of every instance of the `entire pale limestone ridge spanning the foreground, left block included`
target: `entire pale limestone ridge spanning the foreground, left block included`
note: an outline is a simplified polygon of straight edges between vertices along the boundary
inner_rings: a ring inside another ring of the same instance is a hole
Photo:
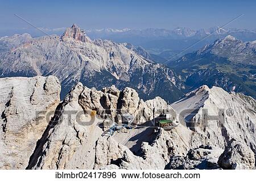
[[[255,168],[256,101],[249,96],[202,86],[170,106],[129,87],[77,83],[59,102],[56,77],[0,81],[2,169]],[[159,118],[175,126],[160,128]]]

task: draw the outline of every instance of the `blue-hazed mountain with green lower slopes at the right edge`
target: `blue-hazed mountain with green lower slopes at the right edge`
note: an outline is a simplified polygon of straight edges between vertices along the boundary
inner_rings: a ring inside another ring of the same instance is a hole
[[[168,62],[191,91],[202,85],[243,92],[256,98],[256,43],[243,43],[233,36]]]

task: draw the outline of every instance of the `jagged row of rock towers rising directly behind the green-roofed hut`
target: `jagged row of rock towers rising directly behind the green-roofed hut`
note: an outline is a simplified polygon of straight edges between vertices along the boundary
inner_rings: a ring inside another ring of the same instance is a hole
[[[115,86],[97,91],[87,87],[81,92],[79,104],[85,112],[96,110],[102,119],[118,121],[120,115],[132,115],[134,123],[142,124],[159,115],[177,120],[176,112],[160,97],[147,100],[139,98],[138,93],[129,87],[119,91]],[[121,120],[122,121],[122,117]]]

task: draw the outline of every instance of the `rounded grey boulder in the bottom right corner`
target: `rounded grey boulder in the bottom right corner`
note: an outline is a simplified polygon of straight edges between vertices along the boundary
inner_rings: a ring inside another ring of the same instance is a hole
[[[247,145],[232,140],[220,155],[218,164],[222,169],[254,169],[255,156]]]

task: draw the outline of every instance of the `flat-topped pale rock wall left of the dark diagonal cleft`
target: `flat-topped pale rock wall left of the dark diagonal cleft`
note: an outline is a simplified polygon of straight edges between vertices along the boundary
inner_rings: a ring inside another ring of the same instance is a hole
[[[54,76],[0,79],[0,169],[25,169],[60,98]]]

